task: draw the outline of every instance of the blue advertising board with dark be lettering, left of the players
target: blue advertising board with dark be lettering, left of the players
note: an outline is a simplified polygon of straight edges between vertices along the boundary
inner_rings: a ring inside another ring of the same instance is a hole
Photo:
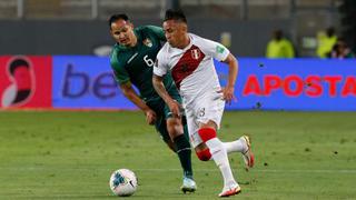
[[[120,92],[109,58],[53,57],[53,108],[136,109]]]

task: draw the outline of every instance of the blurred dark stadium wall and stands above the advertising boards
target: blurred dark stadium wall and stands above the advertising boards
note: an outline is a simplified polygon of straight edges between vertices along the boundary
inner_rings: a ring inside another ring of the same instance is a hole
[[[110,14],[159,26],[171,7],[184,9],[191,32],[230,39],[239,57],[264,57],[275,29],[285,31],[299,57],[315,57],[316,36],[328,27],[355,47],[353,0],[1,0],[0,53],[92,54],[112,44]]]

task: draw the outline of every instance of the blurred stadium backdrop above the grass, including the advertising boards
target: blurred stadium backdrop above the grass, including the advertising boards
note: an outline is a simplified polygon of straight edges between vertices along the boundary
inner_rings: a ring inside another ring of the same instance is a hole
[[[168,8],[181,8],[190,32],[239,58],[240,101],[228,109],[356,110],[355,59],[316,53],[330,27],[355,48],[354,0],[0,0],[0,107],[135,109],[112,80],[107,20],[126,12],[136,26],[161,26]],[[277,29],[295,59],[265,59]],[[21,66],[27,78],[16,73]],[[224,84],[226,68],[217,69]]]

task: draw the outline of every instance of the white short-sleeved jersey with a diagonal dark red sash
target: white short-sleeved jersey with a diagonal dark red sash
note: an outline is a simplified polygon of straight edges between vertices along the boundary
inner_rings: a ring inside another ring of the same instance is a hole
[[[214,58],[222,61],[229,50],[222,44],[189,33],[190,43],[185,49],[172,48],[168,42],[160,49],[154,68],[156,76],[168,71],[186,103],[196,97],[220,90],[220,83],[214,66]]]

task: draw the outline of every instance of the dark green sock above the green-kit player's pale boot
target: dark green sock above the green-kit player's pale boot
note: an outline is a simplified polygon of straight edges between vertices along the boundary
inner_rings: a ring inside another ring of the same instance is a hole
[[[180,134],[174,139],[175,146],[177,147],[177,154],[180,160],[184,176],[192,179],[191,170],[191,149],[189,141],[184,134]]]

